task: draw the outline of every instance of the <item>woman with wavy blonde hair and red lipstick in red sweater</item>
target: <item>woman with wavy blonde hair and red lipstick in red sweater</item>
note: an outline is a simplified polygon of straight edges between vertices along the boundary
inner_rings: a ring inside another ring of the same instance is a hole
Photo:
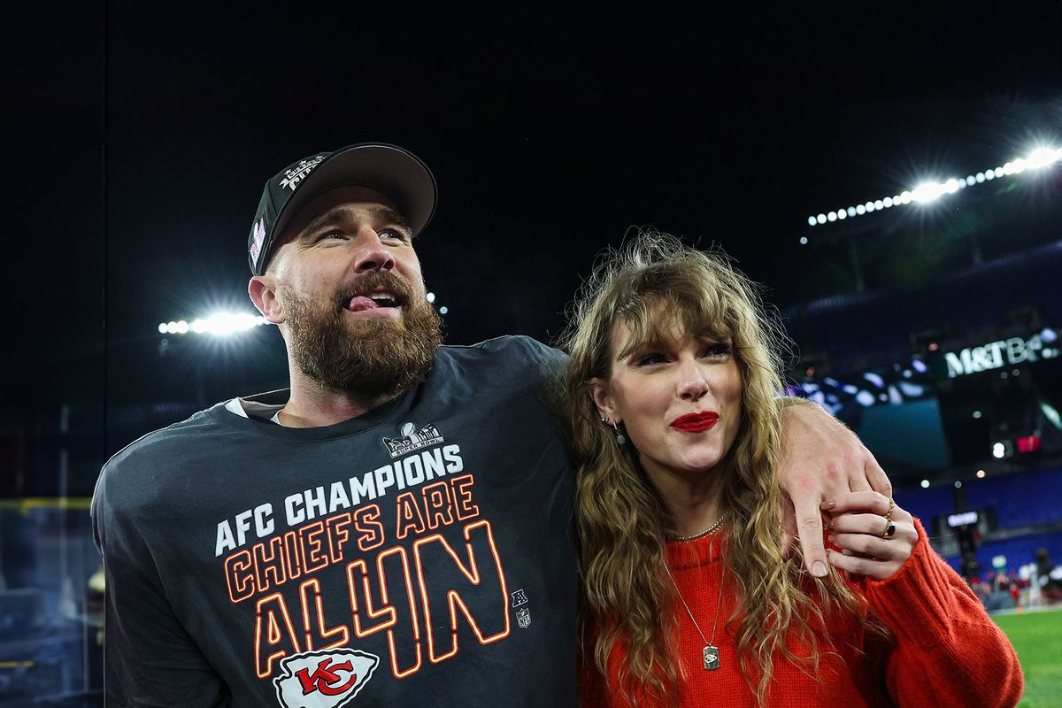
[[[784,557],[777,328],[719,255],[643,234],[565,345],[587,706],[1012,706],[1017,657],[891,499],[824,503]]]

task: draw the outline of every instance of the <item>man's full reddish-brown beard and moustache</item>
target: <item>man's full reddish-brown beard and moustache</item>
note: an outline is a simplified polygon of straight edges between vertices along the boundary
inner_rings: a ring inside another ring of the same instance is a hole
[[[348,322],[350,299],[377,287],[395,293],[401,316]],[[280,292],[295,365],[321,385],[390,397],[416,385],[431,370],[443,340],[442,320],[398,277],[388,272],[362,276],[356,287],[338,294],[331,308],[315,306],[284,286]]]

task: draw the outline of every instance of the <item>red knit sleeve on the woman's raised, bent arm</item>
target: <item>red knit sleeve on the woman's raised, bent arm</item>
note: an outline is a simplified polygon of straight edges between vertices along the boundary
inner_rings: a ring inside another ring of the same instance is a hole
[[[911,557],[891,577],[866,581],[871,609],[894,636],[889,693],[898,706],[1016,705],[1024,681],[1014,647],[914,524]]]

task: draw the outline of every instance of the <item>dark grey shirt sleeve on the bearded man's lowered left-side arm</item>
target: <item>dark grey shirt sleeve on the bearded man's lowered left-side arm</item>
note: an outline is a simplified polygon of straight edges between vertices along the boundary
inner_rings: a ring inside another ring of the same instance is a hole
[[[135,478],[114,461],[92,496],[92,536],[105,574],[104,691],[107,706],[228,705],[229,691],[166,597],[149,542]],[[172,530],[179,533],[179,530]]]

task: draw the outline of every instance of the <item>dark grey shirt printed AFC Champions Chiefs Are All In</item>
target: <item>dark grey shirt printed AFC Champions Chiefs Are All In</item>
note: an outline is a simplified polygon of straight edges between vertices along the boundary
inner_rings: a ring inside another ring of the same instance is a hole
[[[577,705],[563,357],[442,347],[333,426],[219,403],[116,454],[92,500],[108,705]]]

